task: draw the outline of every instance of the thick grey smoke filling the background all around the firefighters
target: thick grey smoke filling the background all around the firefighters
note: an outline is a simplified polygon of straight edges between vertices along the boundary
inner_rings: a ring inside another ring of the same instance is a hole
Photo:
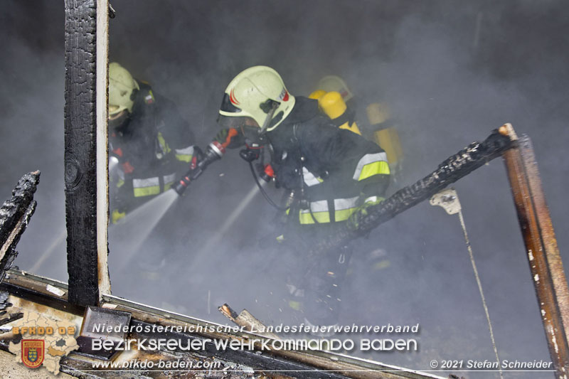
[[[17,260],[30,269],[63,230],[63,5],[5,1],[1,6],[0,28],[9,36],[0,61],[4,198],[25,171],[42,171],[38,213]],[[174,100],[203,147],[218,131],[216,114],[229,80],[259,64],[279,71],[294,95],[308,95],[323,75],[334,74],[346,80],[361,105],[387,103],[405,152],[403,177],[392,192],[511,122],[533,139],[558,245],[568,262],[569,6],[564,1],[115,1],[113,6],[111,60]],[[262,242],[273,232],[267,225],[275,216],[262,196],[203,250],[253,186],[248,166],[230,151],[166,214],[173,236],[152,237],[156,254],[169,252],[161,277],[145,281],[135,270],[117,272],[111,266],[113,292],[222,323],[216,307],[223,302],[248,308],[267,322],[285,319],[267,293],[267,277],[275,285],[285,278],[273,274],[280,261]],[[496,159],[455,188],[500,358],[548,360],[503,164]],[[279,191],[268,191],[279,198]],[[112,241],[110,248],[112,262],[121,252],[113,250]],[[418,353],[363,356],[422,370],[431,359],[494,360],[457,216],[423,203],[358,242],[358,250],[344,289],[341,324],[421,325]],[[383,257],[383,268],[371,268],[372,252]],[[63,250],[37,272],[65,279]]]

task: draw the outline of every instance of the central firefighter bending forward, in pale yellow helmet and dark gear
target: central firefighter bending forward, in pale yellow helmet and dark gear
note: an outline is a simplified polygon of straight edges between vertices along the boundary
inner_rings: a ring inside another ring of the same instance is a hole
[[[218,123],[225,129],[214,142],[222,153],[226,147],[268,146],[277,187],[292,199],[279,237],[298,253],[287,284],[289,304],[302,306],[309,324],[336,324],[351,249],[340,247],[314,262],[307,262],[307,252],[383,200],[390,172],[385,152],[337,128],[317,100],[291,95],[266,66],[248,68],[229,83]]]

